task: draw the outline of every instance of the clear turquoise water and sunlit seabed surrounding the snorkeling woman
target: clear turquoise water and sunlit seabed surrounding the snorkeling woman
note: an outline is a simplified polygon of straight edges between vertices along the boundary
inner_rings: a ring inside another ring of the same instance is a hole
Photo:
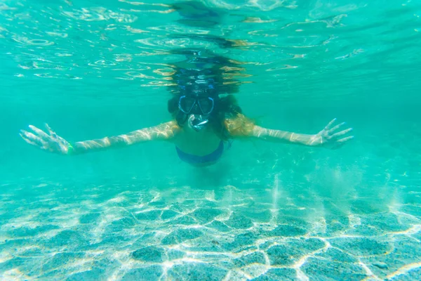
[[[420,15],[396,0],[0,0],[1,280],[419,280]],[[197,169],[169,143],[65,157],[18,135],[166,122],[174,50],[192,48],[229,58],[261,126],[337,117],[355,139],[234,141]]]

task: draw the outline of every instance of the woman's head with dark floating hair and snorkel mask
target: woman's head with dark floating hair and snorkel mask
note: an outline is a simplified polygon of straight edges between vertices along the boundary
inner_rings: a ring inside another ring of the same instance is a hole
[[[234,70],[229,59],[205,51],[178,51],[186,60],[175,64],[168,87],[173,98],[168,101],[168,112],[179,126],[190,126],[200,131],[211,126],[222,138],[226,135],[226,118],[241,114],[232,93],[239,89],[239,81],[233,79]]]

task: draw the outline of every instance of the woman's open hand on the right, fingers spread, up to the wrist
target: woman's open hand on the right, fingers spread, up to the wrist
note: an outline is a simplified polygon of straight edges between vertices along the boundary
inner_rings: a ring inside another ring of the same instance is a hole
[[[330,149],[337,149],[340,148],[342,145],[345,145],[347,141],[352,140],[354,136],[344,136],[349,131],[352,131],[352,128],[345,129],[342,131],[338,131],[338,129],[345,124],[345,122],[330,128],[333,123],[335,123],[336,118],[329,122],[329,124],[319,133],[316,133],[312,136],[312,140],[310,145],[312,146],[320,146],[323,148],[330,148]]]

